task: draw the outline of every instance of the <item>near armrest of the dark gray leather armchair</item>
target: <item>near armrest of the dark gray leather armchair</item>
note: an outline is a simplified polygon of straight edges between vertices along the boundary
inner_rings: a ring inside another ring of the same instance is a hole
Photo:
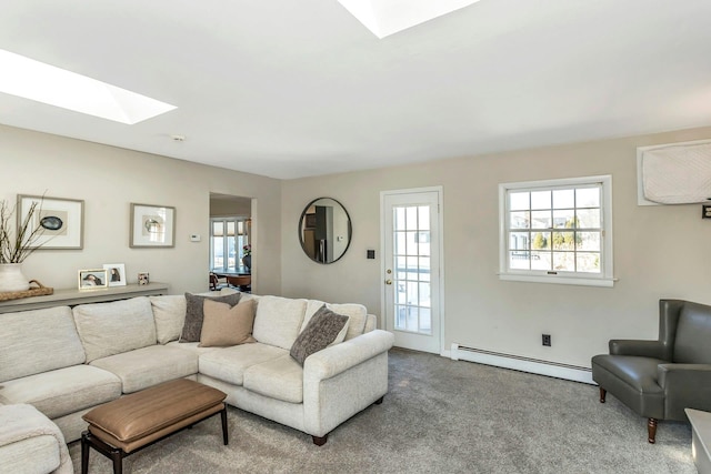
[[[659,364],[664,418],[687,421],[684,409],[711,411],[711,364]]]

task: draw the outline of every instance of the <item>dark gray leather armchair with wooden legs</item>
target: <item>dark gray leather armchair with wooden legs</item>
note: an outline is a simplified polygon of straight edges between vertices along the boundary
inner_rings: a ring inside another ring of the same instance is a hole
[[[648,417],[687,421],[684,409],[711,411],[711,306],[660,300],[659,341],[611,340],[610,354],[592,357],[600,402],[610,392]]]

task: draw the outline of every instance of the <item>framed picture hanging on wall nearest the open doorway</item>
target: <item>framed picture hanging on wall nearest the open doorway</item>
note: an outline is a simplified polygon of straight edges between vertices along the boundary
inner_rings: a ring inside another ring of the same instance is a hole
[[[129,246],[176,246],[176,208],[131,203]]]

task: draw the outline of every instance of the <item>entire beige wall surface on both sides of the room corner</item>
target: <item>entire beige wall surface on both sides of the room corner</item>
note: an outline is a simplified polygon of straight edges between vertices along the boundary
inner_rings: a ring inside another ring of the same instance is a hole
[[[252,196],[256,293],[362,302],[380,314],[380,191],[442,185],[444,349],[457,342],[589,366],[611,337],[654,339],[660,297],[711,304],[711,221],[699,204],[638,206],[635,180],[637,147],[709,137],[705,128],[280,182],[0,125],[0,199],[47,191],[86,201],[84,249],[36,252],[28,278],[69,288],[79,269],[126,263],[129,281],[149,271],[180,293],[207,286],[210,192]],[[615,286],[500,281],[498,184],[593,174],[613,177]],[[353,222],[350,249],[330,265],[299,244],[301,211],[319,196],[340,201]],[[176,206],[174,249],[129,249],[131,202]],[[189,242],[191,233],[202,242]],[[543,332],[552,347],[541,346]]]

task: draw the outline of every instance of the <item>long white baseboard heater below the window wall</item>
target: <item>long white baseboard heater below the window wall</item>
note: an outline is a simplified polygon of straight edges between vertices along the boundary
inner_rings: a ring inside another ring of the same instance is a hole
[[[514,371],[594,384],[590,369],[580,367],[578,365],[561,364],[558,362],[522,357],[520,355],[465,347],[457,343],[452,343],[450,357],[453,361],[477,362],[497,367],[512,369]]]

